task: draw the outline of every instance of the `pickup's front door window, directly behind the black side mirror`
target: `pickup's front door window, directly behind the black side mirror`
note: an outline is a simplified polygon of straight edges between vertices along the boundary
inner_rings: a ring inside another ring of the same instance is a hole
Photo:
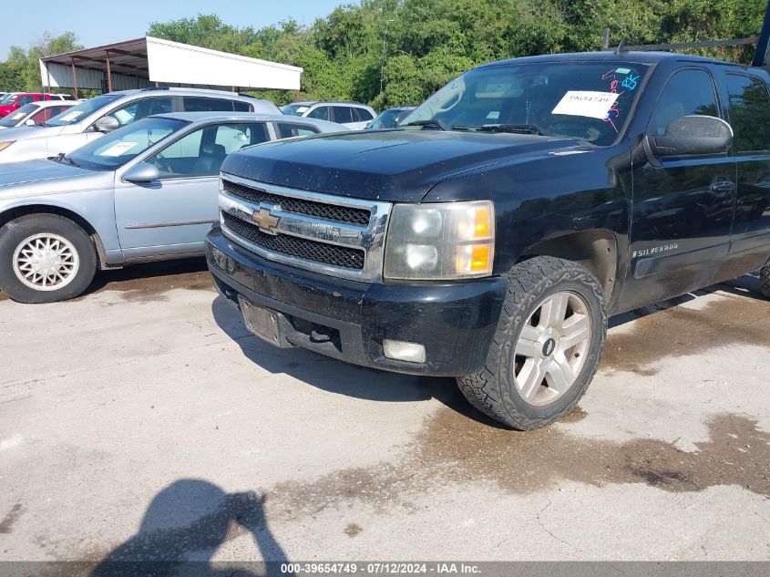
[[[647,131],[662,136],[675,118],[693,114],[719,117],[718,110],[711,75],[699,69],[680,70],[663,88]]]

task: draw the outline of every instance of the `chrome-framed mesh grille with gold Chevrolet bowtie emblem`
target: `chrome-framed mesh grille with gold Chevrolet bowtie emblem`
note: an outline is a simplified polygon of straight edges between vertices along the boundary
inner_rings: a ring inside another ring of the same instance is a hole
[[[389,202],[299,191],[221,174],[220,222],[231,241],[317,273],[382,278]]]

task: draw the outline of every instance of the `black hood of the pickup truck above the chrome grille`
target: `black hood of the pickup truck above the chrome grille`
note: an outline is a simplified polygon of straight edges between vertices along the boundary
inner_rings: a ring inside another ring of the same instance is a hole
[[[364,131],[261,144],[231,154],[221,170],[305,191],[417,202],[460,172],[578,146],[573,139],[527,134]]]

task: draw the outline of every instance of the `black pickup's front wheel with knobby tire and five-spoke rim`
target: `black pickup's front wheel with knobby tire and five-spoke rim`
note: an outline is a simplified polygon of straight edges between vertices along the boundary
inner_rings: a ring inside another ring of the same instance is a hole
[[[508,273],[486,366],[457,385],[471,405],[511,428],[545,427],[585,393],[606,335],[596,276],[578,263],[532,258]]]

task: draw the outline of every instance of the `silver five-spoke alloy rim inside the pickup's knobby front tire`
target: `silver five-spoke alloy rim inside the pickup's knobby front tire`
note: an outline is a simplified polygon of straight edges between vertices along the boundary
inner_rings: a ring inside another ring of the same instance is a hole
[[[574,385],[590,345],[588,304],[575,293],[549,296],[521,328],[514,355],[519,396],[544,406]]]

